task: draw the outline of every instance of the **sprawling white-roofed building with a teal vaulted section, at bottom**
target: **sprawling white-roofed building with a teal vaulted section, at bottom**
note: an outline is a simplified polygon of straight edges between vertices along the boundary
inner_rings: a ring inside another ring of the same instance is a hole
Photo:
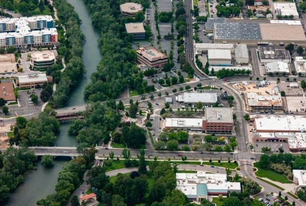
[[[230,192],[241,192],[240,182],[228,182],[226,174],[177,173],[177,189],[189,200],[201,202],[209,195],[227,195]]]

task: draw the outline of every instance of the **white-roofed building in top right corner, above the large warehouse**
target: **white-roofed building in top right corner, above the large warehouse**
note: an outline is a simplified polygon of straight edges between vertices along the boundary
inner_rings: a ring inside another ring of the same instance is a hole
[[[273,2],[271,10],[274,11],[274,16],[293,16],[293,19],[299,19],[299,13],[294,2]]]

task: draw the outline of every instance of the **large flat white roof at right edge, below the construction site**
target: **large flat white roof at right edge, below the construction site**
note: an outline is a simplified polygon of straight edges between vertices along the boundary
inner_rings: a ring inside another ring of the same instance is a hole
[[[255,115],[256,130],[266,131],[305,131],[306,116]]]

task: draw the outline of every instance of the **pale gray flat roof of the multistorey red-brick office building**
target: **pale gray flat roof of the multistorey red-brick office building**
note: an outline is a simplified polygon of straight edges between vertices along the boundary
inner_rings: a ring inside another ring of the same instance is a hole
[[[206,107],[204,120],[207,122],[231,123],[231,109],[226,107]]]

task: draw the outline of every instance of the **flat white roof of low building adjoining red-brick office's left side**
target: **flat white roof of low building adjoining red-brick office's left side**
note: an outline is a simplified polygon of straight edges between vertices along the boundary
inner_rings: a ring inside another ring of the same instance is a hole
[[[193,127],[202,129],[202,118],[166,118],[166,127]]]

